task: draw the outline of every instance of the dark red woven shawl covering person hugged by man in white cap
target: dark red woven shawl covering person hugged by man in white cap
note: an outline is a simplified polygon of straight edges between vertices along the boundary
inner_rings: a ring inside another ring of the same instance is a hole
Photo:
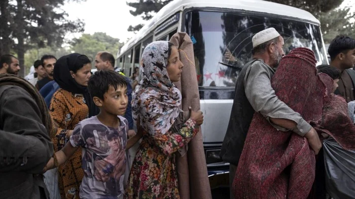
[[[312,51],[296,48],[281,60],[271,80],[280,100],[311,124],[322,119],[326,89],[315,63]],[[277,131],[255,113],[233,182],[235,198],[306,198],[314,168],[306,138]]]

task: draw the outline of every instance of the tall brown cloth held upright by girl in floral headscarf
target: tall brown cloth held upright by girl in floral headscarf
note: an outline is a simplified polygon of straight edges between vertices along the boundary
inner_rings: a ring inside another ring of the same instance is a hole
[[[181,91],[183,99],[181,109],[184,110],[187,119],[190,117],[189,107],[194,111],[200,110],[194,49],[191,38],[183,32],[175,33],[170,42],[179,48],[180,60],[184,64],[181,81],[175,85]],[[211,199],[201,130],[190,141],[187,155],[182,157],[180,153],[176,154],[180,197]]]

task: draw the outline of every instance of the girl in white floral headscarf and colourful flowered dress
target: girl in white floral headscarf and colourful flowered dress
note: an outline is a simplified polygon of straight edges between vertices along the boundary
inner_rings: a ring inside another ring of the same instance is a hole
[[[144,131],[127,182],[126,198],[180,198],[175,152],[185,146],[203,122],[190,109],[185,123],[182,96],[172,82],[180,80],[179,51],[167,41],[155,41],[143,52],[139,88],[133,94],[133,118]],[[185,149],[185,150],[180,150]]]

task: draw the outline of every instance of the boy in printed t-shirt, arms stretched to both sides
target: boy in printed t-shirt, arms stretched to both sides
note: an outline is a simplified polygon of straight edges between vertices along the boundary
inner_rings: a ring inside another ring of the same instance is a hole
[[[115,71],[102,70],[90,77],[88,88],[100,113],[75,127],[45,170],[64,164],[82,146],[80,198],[123,198],[126,150],[142,136],[139,131],[127,140],[128,122],[121,117],[128,102],[126,81]]]

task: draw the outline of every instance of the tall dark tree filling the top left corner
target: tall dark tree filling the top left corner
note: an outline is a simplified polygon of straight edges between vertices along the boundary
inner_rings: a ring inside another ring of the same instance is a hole
[[[24,75],[24,54],[33,47],[55,46],[63,43],[67,32],[84,31],[80,20],[67,20],[58,9],[64,2],[85,0],[1,0],[0,54],[15,49]]]

